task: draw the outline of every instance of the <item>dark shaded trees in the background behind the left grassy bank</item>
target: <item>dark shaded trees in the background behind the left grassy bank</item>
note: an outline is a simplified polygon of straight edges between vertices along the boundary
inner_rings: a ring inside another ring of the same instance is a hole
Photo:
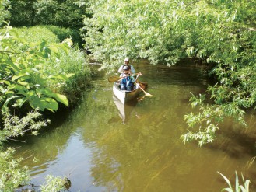
[[[12,26],[55,25],[78,28],[85,14],[85,0],[10,1]]]

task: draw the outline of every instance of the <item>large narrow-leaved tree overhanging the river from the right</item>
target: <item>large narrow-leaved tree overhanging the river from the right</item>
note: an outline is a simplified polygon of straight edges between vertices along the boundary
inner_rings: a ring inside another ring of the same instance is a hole
[[[245,125],[245,110],[255,106],[255,6],[245,0],[89,1],[86,45],[103,68],[124,57],[168,66],[197,58],[209,65],[216,79],[207,89],[211,102],[203,93],[192,96],[199,112],[184,117],[193,130],[181,137],[203,145],[226,117]]]

